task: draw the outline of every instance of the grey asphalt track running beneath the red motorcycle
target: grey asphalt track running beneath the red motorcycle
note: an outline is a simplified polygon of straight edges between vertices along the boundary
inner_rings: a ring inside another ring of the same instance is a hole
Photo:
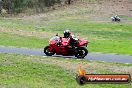
[[[28,49],[28,48],[16,48],[16,47],[6,47],[0,46],[0,53],[13,53],[13,54],[24,54],[24,55],[35,55],[35,56],[45,56],[43,49]],[[54,56],[54,57],[64,57],[64,58],[75,58],[73,56]],[[96,60],[104,62],[119,62],[119,63],[131,63],[131,55],[118,55],[118,54],[103,54],[103,53],[89,53],[85,59]]]

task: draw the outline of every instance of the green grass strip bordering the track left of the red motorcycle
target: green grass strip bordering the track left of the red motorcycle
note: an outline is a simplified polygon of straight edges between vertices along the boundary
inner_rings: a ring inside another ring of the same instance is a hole
[[[25,37],[17,34],[0,33],[0,45],[43,48],[48,44],[48,38]]]

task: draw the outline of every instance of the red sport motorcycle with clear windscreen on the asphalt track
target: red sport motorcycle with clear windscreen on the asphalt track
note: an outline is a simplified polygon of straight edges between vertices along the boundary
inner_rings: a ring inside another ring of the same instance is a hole
[[[73,45],[71,38],[62,38],[59,36],[54,36],[49,40],[49,45],[44,48],[44,53],[47,56],[63,55],[63,56],[75,56],[77,58],[84,58],[88,54],[87,47],[88,41],[84,39],[72,38],[74,39]]]

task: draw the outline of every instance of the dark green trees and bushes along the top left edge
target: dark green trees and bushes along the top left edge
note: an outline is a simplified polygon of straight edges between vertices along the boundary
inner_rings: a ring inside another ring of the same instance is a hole
[[[71,4],[72,0],[0,0],[0,10],[4,8],[8,13],[20,13],[28,8],[43,10],[45,7],[51,7],[62,2]]]

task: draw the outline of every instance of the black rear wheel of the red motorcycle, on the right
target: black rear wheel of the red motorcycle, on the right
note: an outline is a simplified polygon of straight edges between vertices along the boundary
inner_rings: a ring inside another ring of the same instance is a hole
[[[84,58],[87,54],[88,54],[88,50],[85,47],[79,47],[79,48],[77,48],[75,57]]]

